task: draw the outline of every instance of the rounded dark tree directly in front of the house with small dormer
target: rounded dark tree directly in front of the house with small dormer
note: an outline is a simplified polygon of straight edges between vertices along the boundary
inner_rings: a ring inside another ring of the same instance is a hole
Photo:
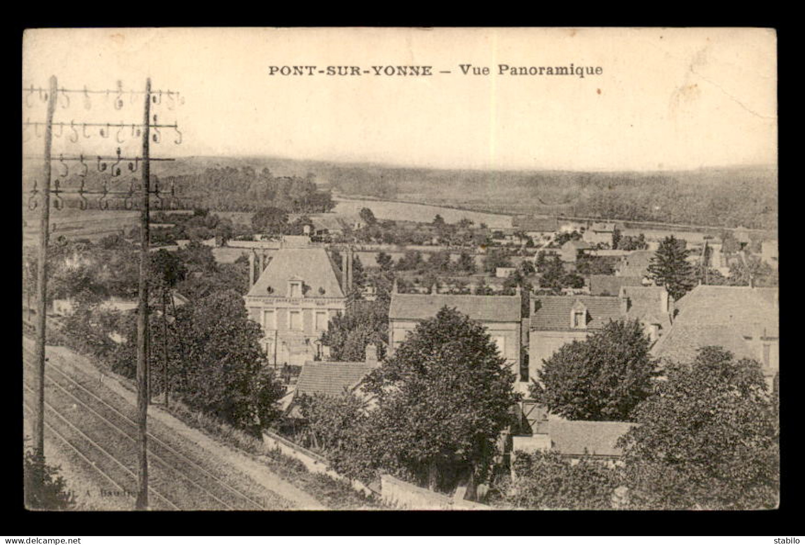
[[[655,364],[649,346],[637,320],[609,322],[545,360],[531,393],[570,420],[630,420],[651,391]]]

